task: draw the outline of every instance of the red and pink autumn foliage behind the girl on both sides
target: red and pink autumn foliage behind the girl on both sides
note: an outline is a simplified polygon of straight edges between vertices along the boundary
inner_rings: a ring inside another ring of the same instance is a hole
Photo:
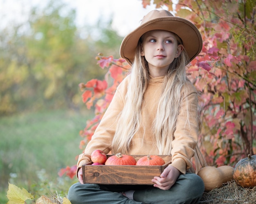
[[[150,4],[142,0],[143,7]],[[173,10],[169,0],[155,0],[157,8]],[[202,52],[188,66],[187,75],[198,90],[200,148],[211,166],[234,166],[256,152],[256,3],[253,0],[180,0],[175,15],[195,23],[202,34]],[[129,65],[121,58],[97,56],[104,81],[79,85],[87,108],[95,116],[80,135],[84,149]]]

